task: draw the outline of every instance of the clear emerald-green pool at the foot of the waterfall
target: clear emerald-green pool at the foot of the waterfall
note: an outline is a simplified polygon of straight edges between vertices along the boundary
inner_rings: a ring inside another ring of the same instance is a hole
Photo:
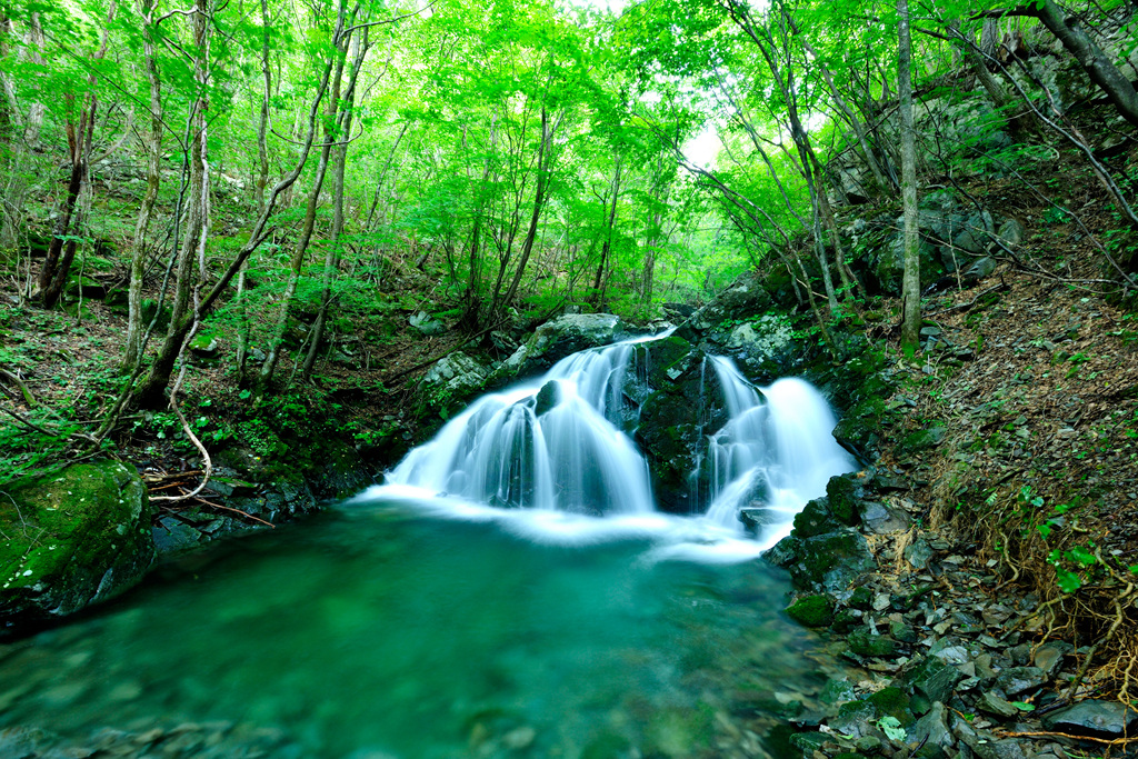
[[[279,732],[271,756],[728,756],[761,702],[733,710],[740,692],[809,686],[808,634],[754,562],[654,561],[649,533],[552,545],[352,503],[3,646],[0,725],[221,721]]]

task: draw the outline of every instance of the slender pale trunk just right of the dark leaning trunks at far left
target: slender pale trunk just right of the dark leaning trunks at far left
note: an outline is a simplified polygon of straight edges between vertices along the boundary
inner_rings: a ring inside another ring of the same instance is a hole
[[[142,52],[150,83],[150,133],[142,146],[147,157],[146,195],[142,197],[142,206],[139,208],[138,222],[134,225],[131,280],[126,296],[126,341],[122,368],[127,371],[133,370],[142,360],[142,333],[146,331],[146,325],[142,323],[142,280],[146,275],[147,233],[162,182],[162,79],[158,75],[158,64],[154,52],[155,2],[156,0],[139,1],[139,11],[142,16]]]

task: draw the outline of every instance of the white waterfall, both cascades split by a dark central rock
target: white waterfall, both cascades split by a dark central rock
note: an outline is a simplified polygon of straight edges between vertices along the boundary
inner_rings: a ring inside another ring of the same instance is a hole
[[[541,523],[555,526],[563,536],[567,514],[604,515],[601,522],[633,525],[636,534],[655,535],[663,526],[675,538],[678,529],[674,543],[688,546],[745,539],[751,548],[740,553],[736,547],[732,555],[753,555],[754,546],[770,545],[790,531],[794,514],[825,493],[830,477],[853,469],[831,435],[833,413],[803,380],[782,379],[757,389],[729,358],[710,357],[729,421],[707,436],[701,452],[700,465],[709,468],[709,506],[703,515],[658,514],[648,464],[621,427],[635,421],[635,404],[624,393],[629,366],[646,362],[651,353],[650,346],[644,350],[637,344],[661,337],[666,335],[584,350],[538,380],[483,396],[435,439],[409,453],[388,476],[387,487],[410,487],[448,502],[513,506],[509,513],[520,508],[537,520],[522,528],[527,534]],[[644,369],[637,366],[633,376]],[[758,541],[744,536],[744,508],[765,510]],[[574,522],[568,533],[592,529],[592,523],[582,529]]]

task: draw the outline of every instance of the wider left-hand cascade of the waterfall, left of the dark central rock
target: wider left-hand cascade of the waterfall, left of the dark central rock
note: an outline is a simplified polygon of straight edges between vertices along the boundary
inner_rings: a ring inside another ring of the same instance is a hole
[[[536,382],[483,396],[388,481],[490,505],[653,511],[648,464],[613,423],[633,346],[576,353]]]

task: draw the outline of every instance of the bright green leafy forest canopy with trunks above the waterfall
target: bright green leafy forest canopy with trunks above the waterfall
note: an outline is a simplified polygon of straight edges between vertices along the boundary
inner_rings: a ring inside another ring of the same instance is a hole
[[[236,330],[238,370],[264,393],[283,353],[312,373],[345,310],[394,307],[393,278],[409,271],[435,311],[487,335],[567,307],[698,303],[764,264],[825,330],[873,287],[851,271],[840,208],[904,196],[916,213],[918,176],[953,178],[976,154],[1015,163],[1017,133],[1063,117],[1024,63],[1044,46],[1136,123],[1131,11],[9,1],[0,249],[24,297],[49,307],[108,251],[129,258],[122,366],[154,405],[205,321]],[[966,129],[930,126],[934,107],[976,93],[988,105],[970,106]],[[914,226],[907,271],[916,245]],[[311,331],[284,346],[297,313]]]

